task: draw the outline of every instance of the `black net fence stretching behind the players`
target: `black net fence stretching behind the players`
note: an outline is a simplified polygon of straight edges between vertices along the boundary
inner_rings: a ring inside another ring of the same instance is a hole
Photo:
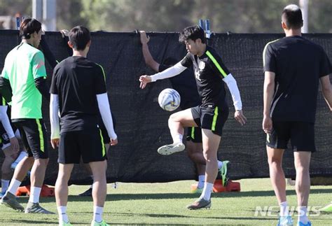
[[[148,43],[157,62],[167,57],[181,59],[186,48],[178,42],[177,33],[151,33]],[[282,34],[213,34],[209,45],[219,52],[240,88],[247,125],[241,127],[230,117],[223,129],[219,159],[230,160],[230,177],[264,178],[269,176],[265,151],[265,134],[261,129],[263,113],[263,60],[266,43],[282,37]],[[306,34],[306,38],[323,46],[332,59],[332,34]],[[6,54],[18,44],[18,31],[0,31],[0,66]],[[46,41],[57,60],[68,57],[69,52],[60,32],[47,32]],[[191,180],[197,177],[195,165],[186,150],[169,156],[157,153],[158,147],[171,143],[167,127],[169,112],[158,105],[158,94],[171,87],[170,80],[158,80],[146,89],[139,89],[138,78],[153,71],[144,63],[139,35],[135,33],[92,32],[92,45],[88,58],[104,67],[111,111],[116,118],[118,146],[108,153],[108,182],[167,182]],[[52,70],[48,63],[48,80]],[[316,122],[317,153],[312,155],[310,174],[332,176],[332,120],[331,112],[319,92]],[[43,103],[43,118],[50,131],[48,103]],[[48,141],[49,142],[49,141]],[[50,148],[50,146],[48,147]],[[92,150],[93,151],[93,150]],[[0,162],[3,161],[1,156]],[[286,150],[284,157],[286,176],[295,176],[293,151]],[[57,150],[50,148],[50,162],[46,183],[53,185],[57,178]],[[71,174],[71,183],[90,183],[90,176],[77,165]]]

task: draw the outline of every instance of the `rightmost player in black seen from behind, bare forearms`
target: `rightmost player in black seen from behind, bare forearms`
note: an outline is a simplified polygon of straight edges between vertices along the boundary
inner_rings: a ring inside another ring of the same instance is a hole
[[[297,225],[311,225],[307,219],[310,193],[310,157],[314,145],[314,121],[319,81],[326,103],[332,111],[331,63],[321,46],[301,36],[302,13],[289,5],[282,11],[286,37],[265,45],[263,51],[264,111],[263,130],[270,179],[280,205],[278,225],[293,225],[286,202],[286,182],[282,156],[291,140],[296,169],[298,198]]]

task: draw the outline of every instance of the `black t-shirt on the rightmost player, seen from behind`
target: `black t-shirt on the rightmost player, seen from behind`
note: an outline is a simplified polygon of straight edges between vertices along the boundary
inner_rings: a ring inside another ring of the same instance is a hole
[[[319,78],[331,73],[323,48],[302,36],[289,36],[265,45],[263,57],[264,71],[275,73],[272,119],[314,122]]]

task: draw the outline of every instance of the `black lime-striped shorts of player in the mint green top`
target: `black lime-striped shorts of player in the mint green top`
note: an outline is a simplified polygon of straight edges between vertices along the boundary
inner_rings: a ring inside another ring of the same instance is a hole
[[[48,141],[43,120],[20,119],[15,120],[14,125],[20,130],[28,156],[35,159],[48,159]]]

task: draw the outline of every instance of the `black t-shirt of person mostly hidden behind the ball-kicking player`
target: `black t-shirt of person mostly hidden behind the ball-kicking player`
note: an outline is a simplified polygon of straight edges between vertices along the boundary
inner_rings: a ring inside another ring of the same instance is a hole
[[[165,71],[173,65],[160,64],[158,72]],[[178,76],[170,78],[172,87],[179,92],[181,97],[180,108],[182,110],[198,106],[202,103],[197,92],[197,86],[192,70],[186,70]]]

